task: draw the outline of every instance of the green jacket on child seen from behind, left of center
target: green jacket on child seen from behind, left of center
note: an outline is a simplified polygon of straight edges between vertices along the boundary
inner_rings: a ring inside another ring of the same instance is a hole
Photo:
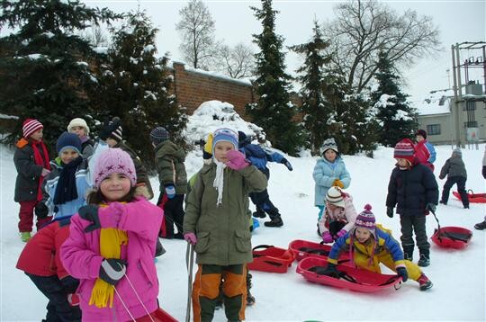
[[[174,184],[176,194],[187,193],[184,149],[166,140],[157,144],[155,158],[160,192],[164,192],[167,184]]]

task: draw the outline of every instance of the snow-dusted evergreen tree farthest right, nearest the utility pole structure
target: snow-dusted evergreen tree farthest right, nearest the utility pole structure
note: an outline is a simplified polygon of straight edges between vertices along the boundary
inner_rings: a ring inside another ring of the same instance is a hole
[[[417,129],[417,113],[409,103],[407,94],[399,87],[400,77],[393,72],[393,64],[383,52],[379,55],[378,70],[375,78],[378,89],[372,93],[374,107],[379,111],[378,121],[382,128],[379,131],[379,142],[392,147],[400,139],[410,138]]]

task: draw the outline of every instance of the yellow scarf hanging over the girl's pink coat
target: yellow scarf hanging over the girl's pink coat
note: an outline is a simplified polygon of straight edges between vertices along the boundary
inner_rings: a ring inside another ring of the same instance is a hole
[[[107,207],[102,204],[100,207]],[[128,245],[128,235],[124,230],[117,228],[101,228],[100,232],[100,255],[104,258],[120,258],[121,245]],[[114,286],[104,282],[99,277],[94,282],[93,291],[89,305],[94,304],[96,308],[106,308],[110,301],[110,308],[113,306]]]

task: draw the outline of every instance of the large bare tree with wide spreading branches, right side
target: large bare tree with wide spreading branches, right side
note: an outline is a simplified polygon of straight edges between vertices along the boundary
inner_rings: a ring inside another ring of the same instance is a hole
[[[395,65],[410,66],[440,50],[439,32],[432,18],[413,10],[398,15],[375,0],[351,0],[338,4],[336,18],[323,25],[328,52],[347,84],[360,93],[370,82],[382,51]]]

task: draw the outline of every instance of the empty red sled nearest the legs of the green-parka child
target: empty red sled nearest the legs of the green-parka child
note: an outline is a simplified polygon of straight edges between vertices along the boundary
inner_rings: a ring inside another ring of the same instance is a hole
[[[287,273],[295,259],[288,249],[275,246],[260,245],[253,247],[253,262],[248,269],[270,273]]]

